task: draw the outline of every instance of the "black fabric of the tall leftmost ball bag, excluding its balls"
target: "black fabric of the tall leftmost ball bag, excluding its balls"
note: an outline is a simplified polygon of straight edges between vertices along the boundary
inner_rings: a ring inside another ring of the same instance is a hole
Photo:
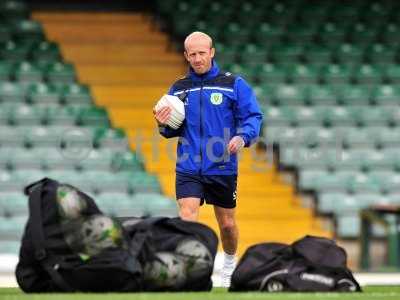
[[[61,222],[56,199],[65,190],[79,196],[84,218],[103,217],[91,197],[69,185],[44,178],[26,187],[29,219],[15,272],[20,288],[28,293],[141,290],[142,268],[133,251],[107,247],[100,254],[87,257],[72,247],[76,240],[68,243],[66,233],[76,233],[82,224]]]

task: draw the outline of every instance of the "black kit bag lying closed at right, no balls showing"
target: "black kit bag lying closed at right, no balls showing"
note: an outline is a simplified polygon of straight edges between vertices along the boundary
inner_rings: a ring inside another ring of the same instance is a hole
[[[247,249],[232,274],[230,291],[360,292],[346,252],[327,238],[305,236],[291,245]]]

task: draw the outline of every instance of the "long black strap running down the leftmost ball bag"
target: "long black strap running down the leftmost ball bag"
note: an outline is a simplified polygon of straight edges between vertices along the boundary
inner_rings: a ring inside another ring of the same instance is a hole
[[[35,249],[35,258],[40,262],[42,267],[50,275],[51,279],[63,291],[72,292],[74,289],[62,278],[57,271],[59,264],[52,261],[48,256],[45,248],[45,238],[43,232],[43,219],[42,219],[42,188],[43,185],[39,184],[32,188],[29,195],[29,219],[32,229],[32,243]]]

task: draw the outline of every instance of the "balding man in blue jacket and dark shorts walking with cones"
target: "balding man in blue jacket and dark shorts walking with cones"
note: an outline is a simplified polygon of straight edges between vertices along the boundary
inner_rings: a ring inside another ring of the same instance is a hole
[[[154,115],[164,137],[180,137],[176,164],[180,217],[197,221],[204,201],[214,206],[224,249],[222,283],[228,287],[238,244],[237,153],[258,137],[262,114],[244,79],[219,70],[207,34],[191,33],[184,47],[189,73],[172,85],[169,94],[184,101],[185,121],[175,130],[166,126],[171,108],[163,107]]]

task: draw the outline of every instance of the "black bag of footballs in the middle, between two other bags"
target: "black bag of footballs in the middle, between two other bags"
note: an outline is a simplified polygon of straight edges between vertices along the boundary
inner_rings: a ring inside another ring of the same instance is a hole
[[[131,243],[143,241],[138,259],[146,291],[209,291],[218,248],[214,231],[180,218],[124,218]]]

